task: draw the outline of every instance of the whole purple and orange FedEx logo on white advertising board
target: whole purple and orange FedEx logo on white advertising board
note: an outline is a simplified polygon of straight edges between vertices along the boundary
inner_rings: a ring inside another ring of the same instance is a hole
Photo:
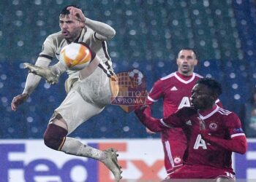
[[[39,142],[40,147],[41,145],[42,143]],[[145,153],[137,152],[134,154],[128,154],[130,153],[128,149],[129,143],[88,143],[88,145],[101,150],[108,149],[109,147],[117,149],[118,153],[120,154],[118,157],[118,162],[122,166],[122,170],[124,171],[122,174],[123,179],[136,179],[140,181],[160,181],[162,178],[165,178],[165,170],[163,165],[164,163],[162,159],[154,159],[153,162],[148,164],[145,160],[146,158],[141,159],[141,157],[138,157],[138,154]],[[13,174],[15,174],[17,170],[22,172],[22,176],[20,176],[20,178],[22,178],[22,181],[26,182],[113,181],[113,175],[112,173],[110,173],[108,168],[105,167],[105,165],[103,165],[101,162],[97,162],[94,159],[88,159],[83,157],[74,158],[71,155],[62,153],[61,151],[53,150],[50,150],[50,153],[45,154],[45,146],[42,145],[42,149],[39,149],[39,152],[31,150],[32,148],[29,146],[29,141],[28,143],[0,144],[0,182],[15,181],[13,179],[13,177],[15,177]],[[63,154],[69,159],[65,159],[60,164],[59,160],[61,159],[61,157],[59,159],[56,159],[56,157],[52,155],[56,152],[58,152],[58,155],[61,156],[61,154]],[[31,157],[31,159],[25,159],[26,156],[31,155],[34,155],[33,157]],[[78,167],[80,168],[80,170],[82,169],[83,175],[81,175],[81,171],[76,173]],[[161,171],[164,172],[164,175],[161,175]]]

